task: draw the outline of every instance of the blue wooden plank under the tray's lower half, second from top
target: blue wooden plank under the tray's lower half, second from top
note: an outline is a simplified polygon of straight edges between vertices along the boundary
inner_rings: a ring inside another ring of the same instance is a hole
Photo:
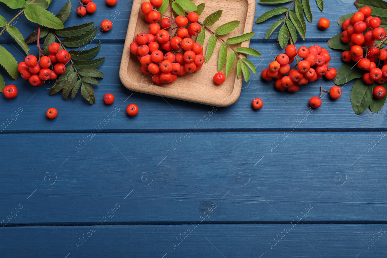
[[[314,43],[312,43],[314,44]],[[306,44],[310,46],[311,44]],[[322,46],[326,45],[321,44]],[[92,47],[91,45],[89,47]],[[298,45],[300,46],[300,45]],[[11,44],[5,47],[15,55],[18,61],[22,55]],[[97,103],[91,106],[78,93],[74,100],[67,102],[60,94],[48,96],[50,84],[39,87],[31,86],[19,77],[17,81],[10,79],[4,70],[0,72],[7,84],[15,84],[19,95],[14,99],[0,96],[0,125],[7,122],[19,107],[23,108],[17,121],[9,123],[2,133],[7,132],[91,132],[101,123],[105,116],[113,109],[103,103],[106,93],[115,95],[115,103],[122,112],[109,123],[104,132],[188,132],[188,131],[288,131],[293,130],[380,130],[386,128],[386,107],[377,113],[369,109],[356,115],[351,107],[349,95],[353,82],[342,85],[340,99],[332,100],[324,93],[323,104],[320,108],[308,113],[308,101],[312,96],[319,96],[320,85],[325,89],[333,86],[333,81],[320,79],[317,82],[301,86],[300,91],[292,94],[279,92],[274,88],[274,81],[266,82],[260,78],[260,72],[267,68],[273,58],[282,52],[275,44],[252,44],[261,51],[259,58],[250,58],[257,64],[257,75],[252,73],[249,83],[243,84],[240,98],[228,108],[213,109],[211,106],[189,103],[174,99],[162,98],[132,92],[123,87],[118,77],[118,71],[123,50],[122,44],[102,44],[99,56],[106,56],[100,67],[104,72],[101,84],[95,87]],[[329,50],[332,55],[330,66],[338,69],[342,64],[340,51]],[[201,72],[201,71],[200,71]],[[203,70],[203,73],[206,71]],[[144,77],[144,83],[151,83],[150,77]],[[183,82],[184,83],[184,82]],[[251,101],[260,97],[264,107],[258,111],[252,109]],[[135,103],[140,112],[135,117],[128,117],[123,111],[128,104]],[[48,108],[58,109],[58,117],[48,120],[45,116]],[[208,112],[216,110],[211,121],[196,127],[200,120],[207,118]],[[305,114],[308,113],[308,116]]]

